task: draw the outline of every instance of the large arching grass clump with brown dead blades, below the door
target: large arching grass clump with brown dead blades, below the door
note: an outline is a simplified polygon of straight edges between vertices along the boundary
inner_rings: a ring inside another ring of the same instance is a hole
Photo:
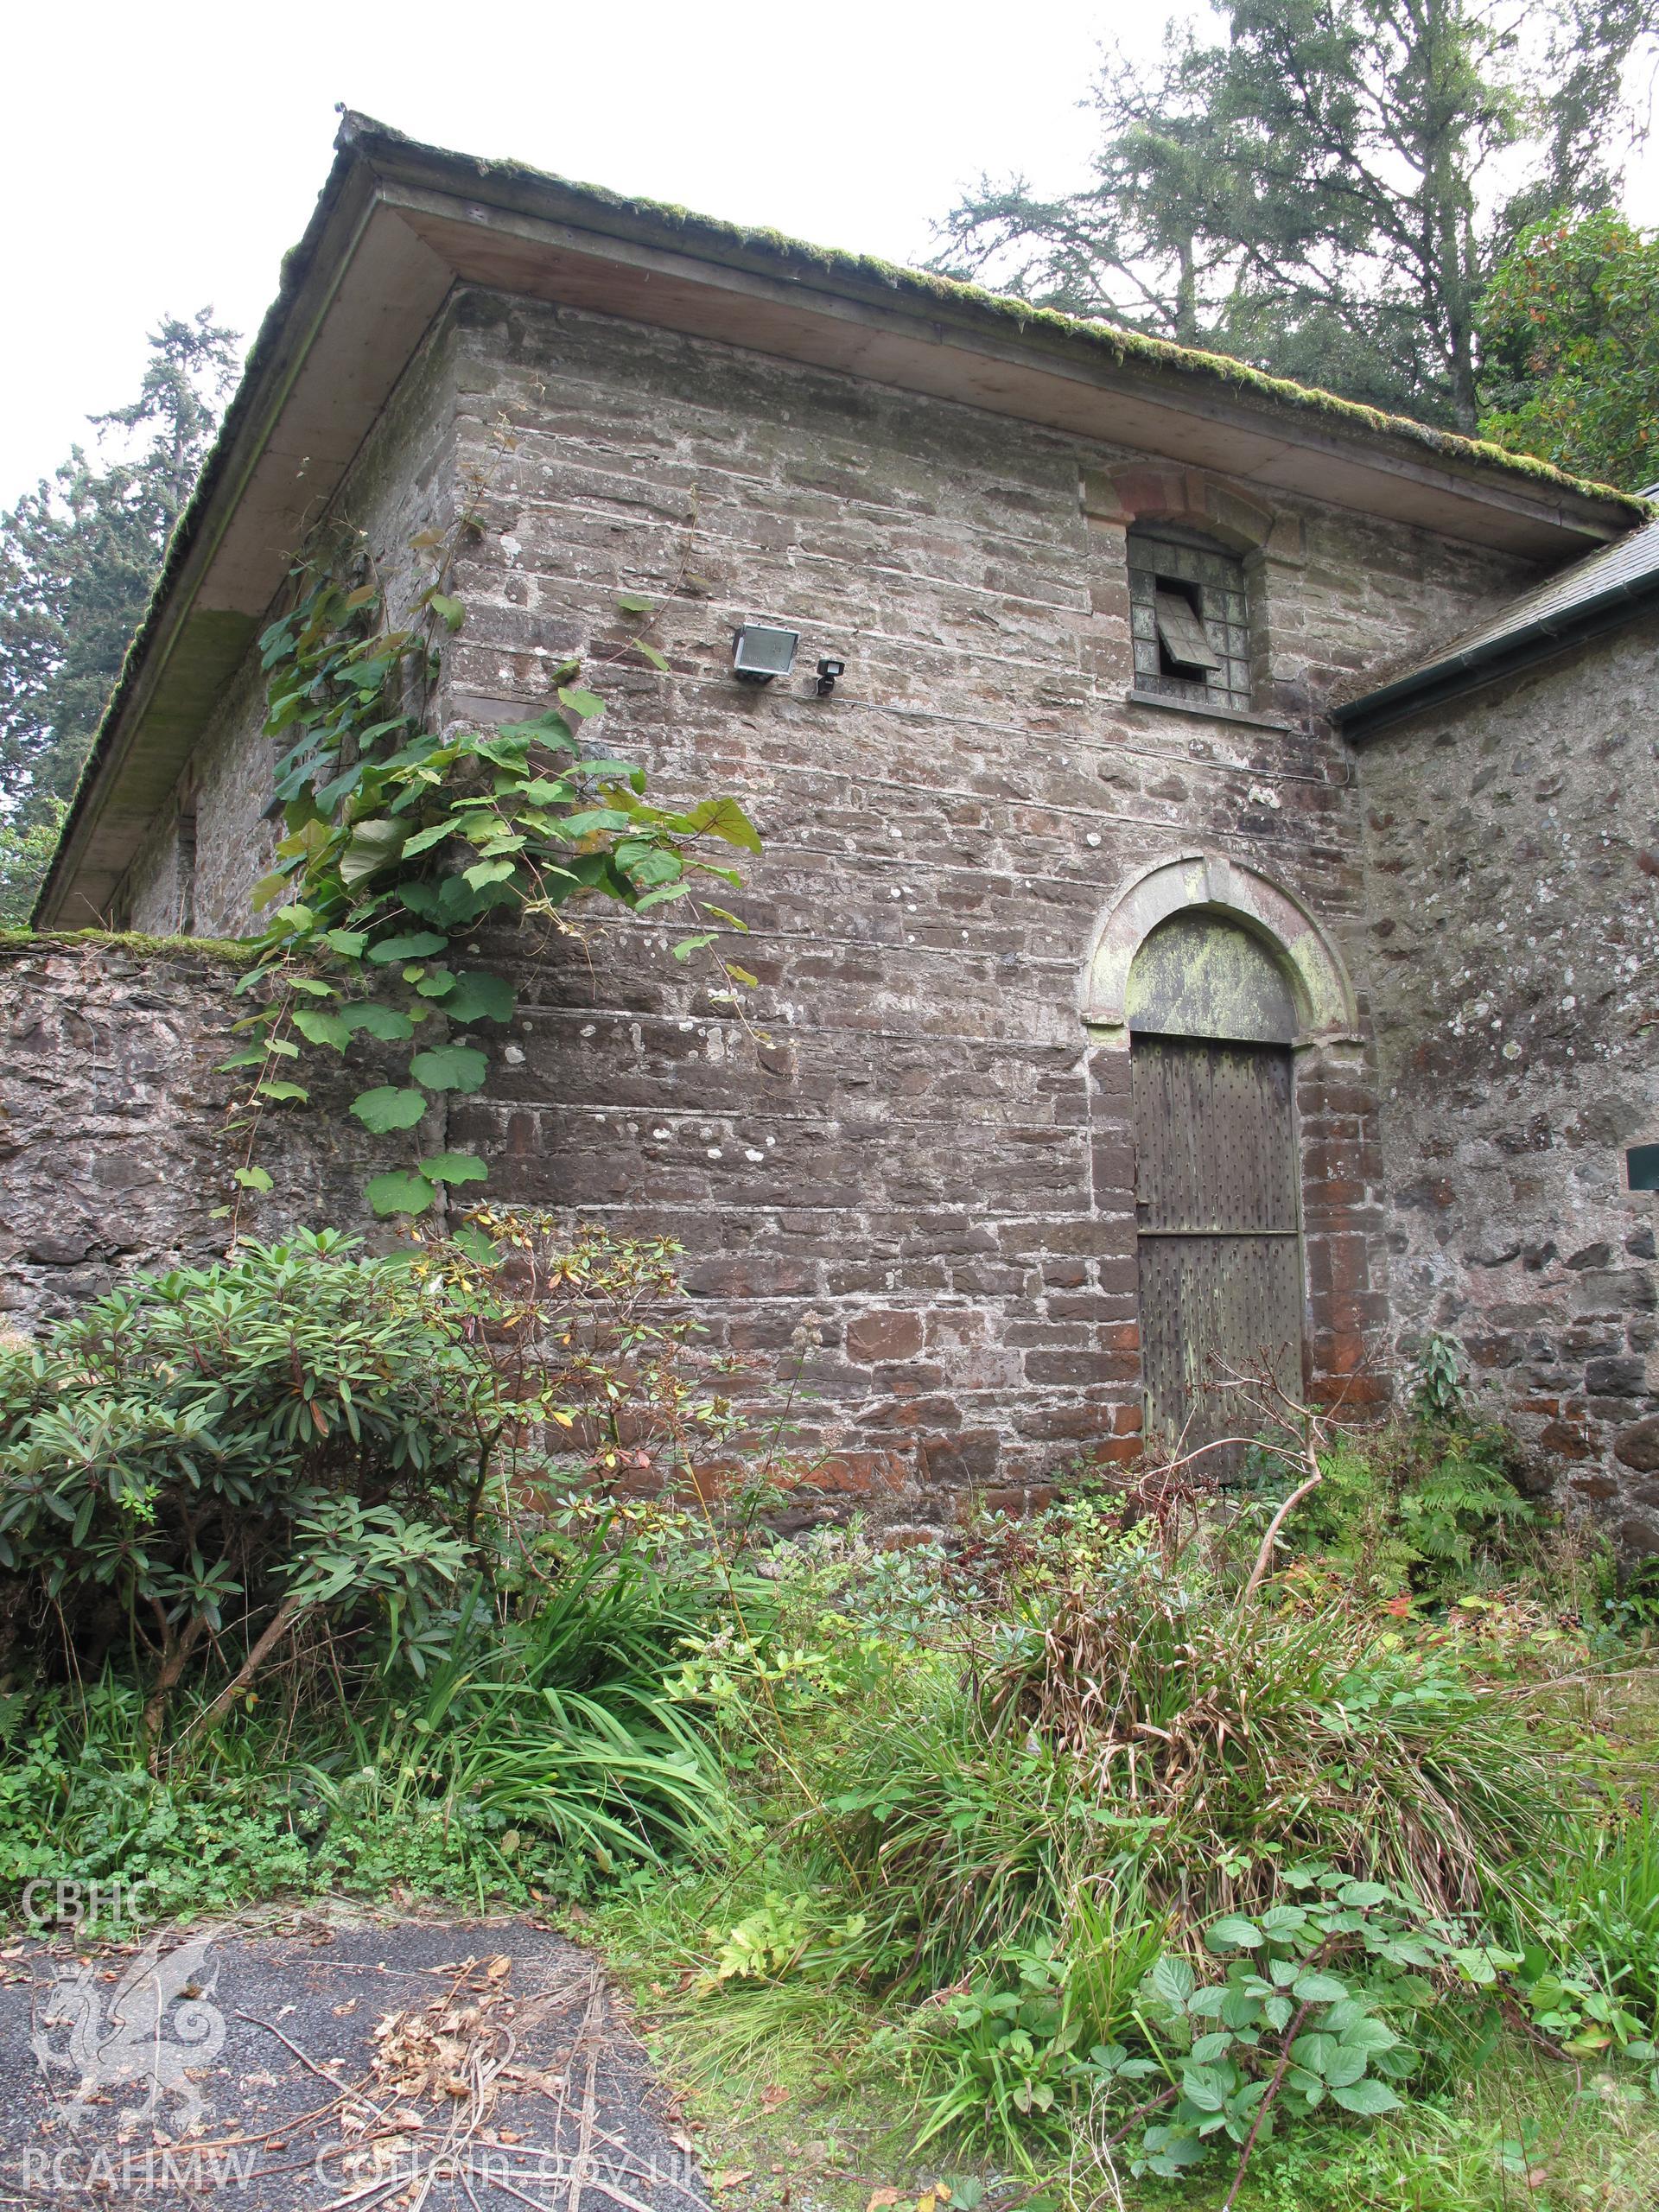
[[[1148,1823],[1148,1880],[1183,1916],[1265,1898],[1287,1854],[1473,1911],[1557,1801],[1517,1697],[1387,1648],[1352,1608],[1228,1604],[1150,1562],[1066,1593],[984,1712]]]

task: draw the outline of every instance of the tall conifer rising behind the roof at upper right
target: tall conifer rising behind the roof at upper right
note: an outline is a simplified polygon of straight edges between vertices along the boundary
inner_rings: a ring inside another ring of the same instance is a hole
[[[1526,221],[1590,210],[1655,0],[1234,0],[1095,86],[1095,179],[984,179],[936,268],[1473,429],[1478,312]],[[1517,181],[1520,179],[1520,181]]]

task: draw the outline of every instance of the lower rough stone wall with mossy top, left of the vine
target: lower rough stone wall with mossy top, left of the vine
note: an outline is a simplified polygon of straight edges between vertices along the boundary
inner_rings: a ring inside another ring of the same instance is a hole
[[[226,1135],[239,969],[201,947],[66,938],[0,947],[0,1316],[33,1327],[124,1267],[199,1263],[230,1225]],[[241,1228],[352,1221],[363,1135],[323,1071],[321,1113],[272,1128],[270,1197]]]

